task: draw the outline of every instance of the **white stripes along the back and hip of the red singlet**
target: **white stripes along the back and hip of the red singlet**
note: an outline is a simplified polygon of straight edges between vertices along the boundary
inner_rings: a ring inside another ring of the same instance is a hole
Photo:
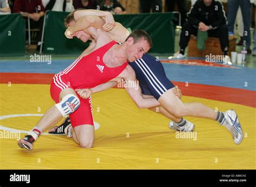
[[[73,63],[71,63],[68,68],[64,69],[63,71],[60,71],[58,74],[55,74],[55,76],[53,77],[53,82],[55,83],[55,85],[58,88],[60,88],[61,90],[65,89],[65,88],[69,88],[68,85],[66,85],[62,81],[61,76],[69,73],[69,71],[71,71],[81,59],[82,59],[82,57],[79,57],[77,60],[75,60]]]

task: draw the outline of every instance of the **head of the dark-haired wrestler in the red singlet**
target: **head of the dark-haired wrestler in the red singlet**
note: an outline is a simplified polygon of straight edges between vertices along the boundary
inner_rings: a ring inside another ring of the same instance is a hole
[[[143,30],[133,31],[125,42],[127,44],[125,53],[129,62],[141,59],[153,45],[150,35]]]

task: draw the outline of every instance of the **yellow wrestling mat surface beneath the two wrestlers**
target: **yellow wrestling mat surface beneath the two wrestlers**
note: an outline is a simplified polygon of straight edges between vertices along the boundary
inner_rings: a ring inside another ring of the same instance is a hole
[[[21,149],[18,137],[10,137],[5,129],[29,131],[35,126],[41,117],[31,114],[43,114],[54,104],[49,90],[50,85],[0,84],[0,169],[255,169],[255,108],[182,98],[219,111],[234,109],[244,131],[237,146],[231,134],[211,120],[186,117],[196,125],[194,134],[172,131],[169,119],[138,109],[124,89],[93,95],[93,117],[100,126],[93,148],[80,148],[63,135],[41,135],[32,151]],[[8,116],[13,114],[19,115]]]

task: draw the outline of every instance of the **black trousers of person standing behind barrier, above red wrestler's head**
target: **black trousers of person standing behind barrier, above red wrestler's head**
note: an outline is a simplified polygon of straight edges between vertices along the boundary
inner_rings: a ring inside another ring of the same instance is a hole
[[[161,12],[163,9],[163,4],[161,0],[140,0],[140,11],[142,13]]]

